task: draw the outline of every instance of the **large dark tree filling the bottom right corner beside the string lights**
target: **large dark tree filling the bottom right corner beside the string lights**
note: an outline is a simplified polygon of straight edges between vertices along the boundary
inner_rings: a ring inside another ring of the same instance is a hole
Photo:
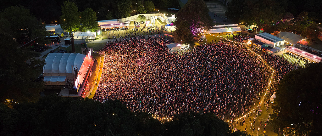
[[[322,63],[290,71],[280,81],[272,124],[285,135],[321,135]],[[308,76],[309,75],[309,76]]]

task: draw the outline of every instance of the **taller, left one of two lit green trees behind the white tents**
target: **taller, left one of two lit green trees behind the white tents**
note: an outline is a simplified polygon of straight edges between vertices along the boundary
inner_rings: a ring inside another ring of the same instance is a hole
[[[78,31],[80,29],[80,13],[75,3],[65,1],[62,6],[61,27],[69,33]]]

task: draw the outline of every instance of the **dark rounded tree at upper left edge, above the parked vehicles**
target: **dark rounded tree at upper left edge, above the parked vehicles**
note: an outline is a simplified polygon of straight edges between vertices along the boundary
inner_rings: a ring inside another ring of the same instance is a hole
[[[11,6],[0,13],[0,31],[2,34],[10,35],[19,44],[24,44],[38,37],[37,42],[43,43],[44,36],[48,33],[45,24],[29,13],[22,6]]]

